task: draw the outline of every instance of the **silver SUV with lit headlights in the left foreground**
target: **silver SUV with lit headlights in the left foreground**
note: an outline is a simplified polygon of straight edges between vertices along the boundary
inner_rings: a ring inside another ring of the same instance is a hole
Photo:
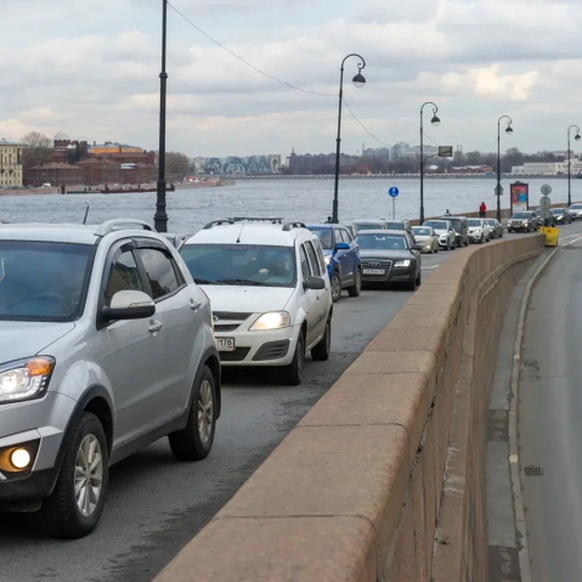
[[[220,409],[210,301],[165,237],[0,226],[0,510],[82,537],[109,466],[164,435],[203,459]]]

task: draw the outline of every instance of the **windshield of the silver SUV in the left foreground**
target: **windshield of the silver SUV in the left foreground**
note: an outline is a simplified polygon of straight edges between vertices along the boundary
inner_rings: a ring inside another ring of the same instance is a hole
[[[0,320],[77,319],[94,250],[88,244],[0,241]]]

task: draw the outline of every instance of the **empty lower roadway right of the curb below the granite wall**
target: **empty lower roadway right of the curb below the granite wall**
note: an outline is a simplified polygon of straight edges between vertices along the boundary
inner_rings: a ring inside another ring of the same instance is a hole
[[[521,353],[520,470],[534,582],[582,579],[581,251],[579,233],[546,267]]]

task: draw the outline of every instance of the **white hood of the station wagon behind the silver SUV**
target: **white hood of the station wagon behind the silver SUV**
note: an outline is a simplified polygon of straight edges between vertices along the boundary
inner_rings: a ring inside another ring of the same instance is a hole
[[[264,313],[285,309],[294,292],[291,287],[200,285],[210,298],[212,311]]]

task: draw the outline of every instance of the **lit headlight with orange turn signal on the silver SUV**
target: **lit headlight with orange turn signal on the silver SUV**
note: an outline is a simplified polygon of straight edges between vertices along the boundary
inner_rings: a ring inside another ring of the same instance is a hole
[[[0,367],[0,404],[42,396],[48,388],[54,358],[42,356]]]

